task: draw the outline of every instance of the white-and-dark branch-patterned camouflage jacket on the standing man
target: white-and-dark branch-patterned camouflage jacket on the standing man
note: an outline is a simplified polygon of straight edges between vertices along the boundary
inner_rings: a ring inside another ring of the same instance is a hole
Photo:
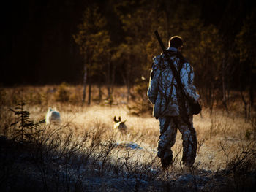
[[[170,60],[180,74],[184,93],[192,101],[197,101],[199,95],[193,85],[194,71],[192,66],[183,58],[181,53],[178,53],[175,47],[169,47],[167,50]],[[153,58],[153,61],[147,94],[149,101],[154,104],[154,117],[181,115],[179,110],[181,104],[178,103],[178,97],[181,97],[181,93],[178,91],[177,82],[165,55],[158,55]],[[188,101],[185,104],[188,114],[191,115]]]

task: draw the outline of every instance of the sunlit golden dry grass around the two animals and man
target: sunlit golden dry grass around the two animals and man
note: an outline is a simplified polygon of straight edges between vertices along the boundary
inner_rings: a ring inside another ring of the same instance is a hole
[[[91,170],[99,166],[97,170],[99,169],[100,175],[106,174],[108,171],[120,173],[121,170],[125,170],[130,174],[140,175],[136,177],[140,180],[144,177],[142,172],[145,172],[147,177],[151,175],[154,180],[164,181],[182,174],[183,168],[180,166],[181,136],[178,134],[176,145],[173,147],[174,153],[177,155],[176,166],[170,168],[169,176],[167,176],[159,172],[159,159],[156,158],[159,122],[151,117],[151,112],[143,115],[132,115],[127,108],[125,88],[115,88],[114,102],[111,106],[104,101],[107,98],[105,88],[102,89],[101,101],[98,98],[97,87],[92,88],[92,103],[90,106],[82,106],[80,102],[82,100],[81,86],[65,85],[64,88],[67,90],[69,98],[69,101],[65,102],[60,102],[56,98],[58,97],[58,88],[57,85],[1,88],[0,134],[12,137],[13,132],[10,124],[14,122],[15,115],[10,112],[9,108],[15,107],[18,101],[23,99],[27,102],[25,110],[30,112],[30,118],[35,121],[45,118],[48,107],[56,107],[61,113],[61,125],[44,126],[45,130],[48,131],[44,132],[45,138],[51,131],[60,128],[58,134],[54,134],[54,137],[63,140],[63,143],[59,144],[59,149],[68,145],[69,149],[72,146],[79,146],[79,153],[89,154],[91,150],[90,158],[96,158],[97,161],[105,162],[105,164],[108,163],[108,166],[105,166],[108,169],[103,168],[102,163],[91,166],[93,167]],[[244,122],[241,104],[238,101],[236,101],[236,104],[232,104],[233,110],[229,114],[222,109],[214,109],[213,114],[210,115],[210,111],[204,108],[200,115],[194,116],[194,126],[197,131],[198,148],[200,149],[195,160],[197,170],[209,170],[212,173],[227,168],[231,169],[230,167],[233,167],[232,162],[244,162],[245,159],[247,161],[251,157],[244,157],[241,154],[255,154],[255,139],[253,138],[255,128],[251,122]],[[120,115],[122,120],[127,119],[127,134],[113,131],[113,117],[115,115]],[[98,140],[94,138],[94,132],[97,132]],[[69,137],[70,135],[72,137]],[[68,143],[65,144],[67,138],[71,140],[68,140]],[[39,139],[39,141],[42,140],[42,138]],[[95,149],[90,148],[92,142],[97,142]],[[140,148],[132,149],[127,145],[129,143],[137,144]],[[102,153],[105,155],[101,156]],[[153,173],[148,171],[149,169],[154,169]],[[95,170],[91,172],[96,174]],[[131,178],[125,172],[122,173],[122,178],[124,183],[127,183],[127,188],[130,188]],[[174,172],[176,176],[173,174]],[[84,179],[86,180],[86,177]],[[137,179],[131,187],[133,191],[136,191],[141,184]],[[170,187],[169,185],[170,183],[165,185],[164,188]],[[195,191],[198,191],[198,188],[195,188]]]

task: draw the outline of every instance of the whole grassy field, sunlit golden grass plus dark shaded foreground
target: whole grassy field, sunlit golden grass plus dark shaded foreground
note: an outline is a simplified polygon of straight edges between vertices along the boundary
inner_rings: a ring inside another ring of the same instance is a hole
[[[132,111],[147,102],[135,96],[127,104],[126,89],[116,87],[110,105],[105,100],[106,89],[102,88],[99,99],[93,86],[91,104],[82,105],[82,90],[64,84],[1,88],[0,142],[5,147],[1,150],[0,187],[4,191],[37,185],[41,191],[250,191],[255,186],[255,114],[252,111],[245,122],[243,103],[235,94],[228,113],[217,106],[211,114],[203,107],[194,116],[195,168],[181,165],[178,133],[173,146],[175,163],[163,172],[156,157],[158,120],[150,110]],[[56,107],[61,123],[39,123],[34,129],[21,126],[29,131],[20,137],[21,113],[15,115],[10,108],[15,110],[21,100],[26,102],[23,111],[29,112],[32,122],[44,119],[48,107]],[[126,134],[113,130],[115,115],[127,120]],[[16,145],[19,147],[13,147]],[[13,157],[17,161],[9,164]],[[14,175],[19,181],[15,185]],[[27,185],[27,181],[34,184]]]

